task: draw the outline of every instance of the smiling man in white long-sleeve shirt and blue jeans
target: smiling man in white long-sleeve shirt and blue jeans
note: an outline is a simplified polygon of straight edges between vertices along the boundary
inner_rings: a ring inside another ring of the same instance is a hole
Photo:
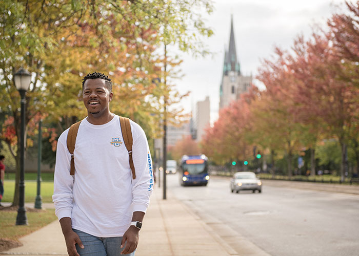
[[[69,256],[134,255],[152,193],[146,135],[138,124],[130,122],[135,167],[132,179],[119,117],[109,108],[112,96],[108,76],[94,72],[83,78],[88,116],[77,132],[74,176],[70,175],[71,154],[66,144],[69,129],[58,138],[52,199]]]

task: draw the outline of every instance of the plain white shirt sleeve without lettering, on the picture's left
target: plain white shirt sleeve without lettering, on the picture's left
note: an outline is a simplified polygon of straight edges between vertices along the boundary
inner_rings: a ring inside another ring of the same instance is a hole
[[[69,217],[72,213],[72,187],[74,177],[70,175],[71,154],[67,148],[66,140],[69,130],[66,130],[57,141],[56,163],[54,174],[54,194],[52,201],[58,220]]]

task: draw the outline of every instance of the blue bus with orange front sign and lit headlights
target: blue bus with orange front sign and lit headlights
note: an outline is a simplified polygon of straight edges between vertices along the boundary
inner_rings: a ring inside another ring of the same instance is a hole
[[[205,155],[183,156],[179,165],[179,179],[182,186],[206,186],[209,180],[208,158]]]

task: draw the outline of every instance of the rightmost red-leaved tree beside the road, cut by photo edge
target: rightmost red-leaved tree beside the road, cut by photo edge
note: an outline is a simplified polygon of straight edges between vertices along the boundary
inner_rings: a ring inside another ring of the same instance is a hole
[[[347,145],[358,129],[359,91],[353,83],[343,79],[346,65],[328,36],[313,33],[304,49],[305,55],[298,57],[303,65],[296,70],[303,80],[302,86],[297,87],[297,94],[301,96],[298,101],[307,106],[304,110],[310,110],[308,115],[317,121],[314,125],[321,126],[322,134],[338,139],[342,148],[341,180],[344,181]]]

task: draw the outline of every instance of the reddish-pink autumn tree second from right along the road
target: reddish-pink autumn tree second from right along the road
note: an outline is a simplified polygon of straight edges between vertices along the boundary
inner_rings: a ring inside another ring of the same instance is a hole
[[[252,104],[254,120],[264,124],[256,124],[255,131],[263,129],[267,134],[264,142],[269,139],[271,149],[283,150],[287,155],[288,176],[292,175],[293,155],[303,150],[312,139],[309,127],[301,120],[301,111],[294,104],[297,97],[298,81],[293,75],[290,62],[281,49],[276,48],[276,58],[265,60],[260,69],[258,79],[266,90],[263,91],[261,104]],[[263,144],[263,142],[259,142]]]

